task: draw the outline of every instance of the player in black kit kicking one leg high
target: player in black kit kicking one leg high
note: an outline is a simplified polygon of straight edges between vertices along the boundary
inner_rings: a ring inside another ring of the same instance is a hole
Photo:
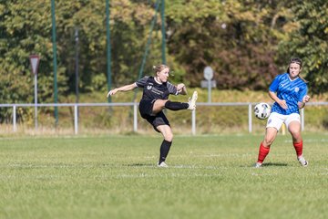
[[[155,130],[163,135],[164,140],[160,145],[158,166],[168,167],[165,160],[173,141],[173,133],[169,120],[162,110],[195,110],[198,94],[197,91],[194,91],[189,102],[170,101],[170,94],[187,94],[185,85],[180,83],[174,86],[169,83],[169,67],[166,65],[153,67],[153,70],[156,74],[155,77],[146,76],[135,83],[109,90],[108,97],[116,94],[118,91],[128,91],[136,88],[143,89],[142,98],[139,102],[139,112],[143,119],[147,120]]]

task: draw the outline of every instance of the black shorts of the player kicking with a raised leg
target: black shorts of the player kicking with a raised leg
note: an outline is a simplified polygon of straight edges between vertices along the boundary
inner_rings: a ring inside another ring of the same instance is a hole
[[[143,119],[147,120],[154,128],[154,130],[160,132],[157,127],[159,125],[168,125],[169,126],[169,120],[166,118],[163,111],[160,111],[158,114],[153,114],[152,109],[154,106],[154,100],[149,99],[141,99],[139,103],[139,112]]]

